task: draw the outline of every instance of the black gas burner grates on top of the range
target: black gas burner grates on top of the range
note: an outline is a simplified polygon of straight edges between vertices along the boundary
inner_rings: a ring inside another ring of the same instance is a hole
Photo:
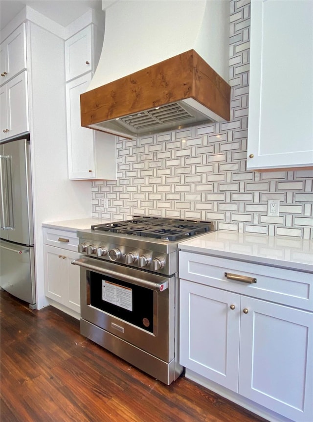
[[[209,221],[155,217],[136,217],[132,220],[98,224],[91,226],[91,229],[169,241],[181,240],[214,230],[213,223]]]

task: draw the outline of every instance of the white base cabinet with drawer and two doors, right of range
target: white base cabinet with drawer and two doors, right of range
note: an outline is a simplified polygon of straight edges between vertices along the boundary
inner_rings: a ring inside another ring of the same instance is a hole
[[[280,304],[271,302],[279,294],[277,269],[185,252],[179,261],[179,363],[277,415],[312,421],[312,274],[285,270]],[[225,272],[257,282],[229,281]],[[295,300],[307,296],[309,310],[284,304],[297,285]],[[268,300],[252,297],[254,292]]]

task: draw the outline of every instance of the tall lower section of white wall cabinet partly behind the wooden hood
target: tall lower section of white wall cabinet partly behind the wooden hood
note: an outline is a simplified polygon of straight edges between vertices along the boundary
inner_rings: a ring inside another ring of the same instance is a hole
[[[116,180],[115,136],[80,124],[80,94],[90,81],[91,72],[66,84],[68,178]]]

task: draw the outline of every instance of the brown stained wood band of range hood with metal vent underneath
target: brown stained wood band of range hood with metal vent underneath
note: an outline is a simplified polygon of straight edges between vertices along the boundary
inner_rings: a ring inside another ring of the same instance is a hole
[[[230,86],[193,49],[81,94],[81,125],[135,139],[230,119]]]

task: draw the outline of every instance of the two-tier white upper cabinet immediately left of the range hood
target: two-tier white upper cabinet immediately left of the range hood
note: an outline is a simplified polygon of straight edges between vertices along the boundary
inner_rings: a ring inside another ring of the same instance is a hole
[[[102,43],[103,32],[94,24],[65,43],[68,178],[73,180],[116,180],[116,137],[82,127],[80,120],[80,94],[90,85]]]

